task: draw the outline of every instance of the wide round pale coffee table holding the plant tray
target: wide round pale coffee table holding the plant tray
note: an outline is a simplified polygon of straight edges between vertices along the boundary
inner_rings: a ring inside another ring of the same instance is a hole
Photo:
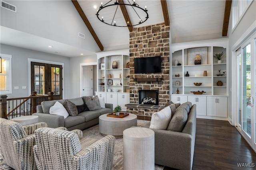
[[[102,135],[123,137],[123,131],[132,126],[137,126],[137,115],[132,113],[124,118],[107,117],[107,114],[99,117],[99,131]]]

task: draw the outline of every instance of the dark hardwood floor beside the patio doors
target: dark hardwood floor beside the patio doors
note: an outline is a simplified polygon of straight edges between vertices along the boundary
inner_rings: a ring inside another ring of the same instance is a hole
[[[212,119],[196,119],[196,121],[192,170],[256,169],[256,153],[228,121]],[[238,167],[238,163],[254,167]],[[173,170],[173,168],[164,167],[164,170]]]

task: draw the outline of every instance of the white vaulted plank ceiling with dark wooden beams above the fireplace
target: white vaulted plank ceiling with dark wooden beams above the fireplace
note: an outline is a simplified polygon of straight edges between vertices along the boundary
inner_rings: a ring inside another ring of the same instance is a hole
[[[133,27],[107,25],[99,21],[95,15],[101,2],[104,5],[109,1],[72,0],[72,2],[102,51],[104,47],[129,44],[129,32]],[[108,4],[114,2],[116,0]],[[118,2],[128,4],[127,0],[118,0]],[[189,39],[188,37],[196,37],[196,40],[204,40],[204,37],[222,38],[227,35],[231,2],[231,0],[136,0],[141,8],[146,6],[149,18],[134,27],[164,22],[165,25],[170,26],[174,43]],[[97,8],[94,9],[94,6]],[[104,15],[110,16],[112,10],[110,8]],[[129,9],[117,8],[115,20],[118,19],[121,20],[119,23],[127,23],[127,21],[137,23]]]

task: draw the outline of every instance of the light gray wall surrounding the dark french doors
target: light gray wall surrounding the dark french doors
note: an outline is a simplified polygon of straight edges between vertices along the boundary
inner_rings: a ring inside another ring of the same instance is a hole
[[[44,61],[52,61],[58,63],[64,63],[64,96],[66,98],[70,96],[70,58],[60,55],[53,55],[49,53],[43,53],[40,51],[34,51],[29,49],[23,49],[10,45],[1,44],[1,53],[12,55],[12,94],[7,94],[8,98],[26,97],[31,94],[29,91],[29,78],[28,70],[30,65],[28,59],[38,59]],[[14,86],[19,86],[18,90],[14,90]],[[22,89],[22,86],[26,86],[26,89]]]

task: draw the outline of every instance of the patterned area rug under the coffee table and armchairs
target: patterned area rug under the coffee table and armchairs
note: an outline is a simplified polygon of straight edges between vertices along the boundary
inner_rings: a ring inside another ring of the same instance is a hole
[[[149,121],[138,120],[137,126],[142,127],[146,125]],[[101,139],[104,137],[99,132],[99,125],[92,126],[88,129],[83,130],[83,136],[86,138]],[[4,162],[2,154],[0,153],[0,168],[2,170],[13,170]],[[155,164],[155,170],[163,170],[164,166]],[[115,149],[114,149],[114,160],[112,170],[123,170],[123,138],[116,138]]]

